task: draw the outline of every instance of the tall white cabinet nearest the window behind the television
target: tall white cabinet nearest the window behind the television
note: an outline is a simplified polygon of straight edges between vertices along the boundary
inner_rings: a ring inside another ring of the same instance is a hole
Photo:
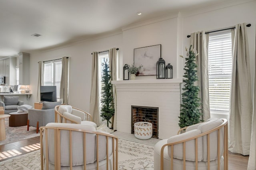
[[[19,85],[30,85],[30,54],[19,53]]]

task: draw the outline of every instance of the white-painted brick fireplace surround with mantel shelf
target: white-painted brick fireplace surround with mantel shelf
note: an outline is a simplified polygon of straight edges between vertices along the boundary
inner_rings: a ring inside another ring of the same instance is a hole
[[[117,95],[117,130],[131,133],[132,105],[158,107],[158,138],[176,135],[179,130],[180,83],[182,79],[112,81]]]

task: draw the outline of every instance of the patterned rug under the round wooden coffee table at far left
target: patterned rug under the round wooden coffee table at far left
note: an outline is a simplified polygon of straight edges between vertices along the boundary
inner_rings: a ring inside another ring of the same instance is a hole
[[[27,138],[32,138],[40,135],[39,132],[36,133],[35,127],[29,127],[29,131],[27,131],[27,126],[9,127],[9,119],[5,119],[4,123],[5,123],[5,131],[6,131],[6,140],[0,141],[0,145],[16,142],[18,140],[24,140]]]

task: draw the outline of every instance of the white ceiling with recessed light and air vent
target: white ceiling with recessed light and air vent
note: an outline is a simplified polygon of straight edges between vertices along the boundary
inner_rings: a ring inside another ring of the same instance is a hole
[[[0,0],[0,57],[75,42],[188,7],[220,2],[224,0]],[[31,36],[35,33],[42,36]]]

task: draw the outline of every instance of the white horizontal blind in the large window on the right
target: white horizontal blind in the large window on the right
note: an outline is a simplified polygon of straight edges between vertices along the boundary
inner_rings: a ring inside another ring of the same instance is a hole
[[[232,73],[230,31],[209,35],[208,57],[210,111],[228,114]]]

